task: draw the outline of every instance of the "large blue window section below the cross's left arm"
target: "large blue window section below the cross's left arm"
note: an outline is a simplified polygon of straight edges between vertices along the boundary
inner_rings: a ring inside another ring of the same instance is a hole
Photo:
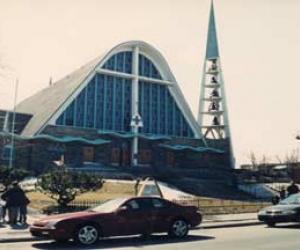
[[[97,74],[60,115],[56,124],[131,131],[131,85],[129,79]]]

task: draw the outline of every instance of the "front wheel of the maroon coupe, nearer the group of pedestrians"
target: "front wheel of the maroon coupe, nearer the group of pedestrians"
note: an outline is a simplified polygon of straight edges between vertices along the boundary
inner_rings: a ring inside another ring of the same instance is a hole
[[[83,225],[76,232],[75,240],[82,245],[92,245],[99,240],[99,228],[96,225]]]

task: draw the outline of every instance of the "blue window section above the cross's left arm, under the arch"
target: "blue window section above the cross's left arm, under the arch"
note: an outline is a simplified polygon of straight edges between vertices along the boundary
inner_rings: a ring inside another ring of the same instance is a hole
[[[132,52],[119,52],[113,55],[104,63],[102,68],[131,74]]]

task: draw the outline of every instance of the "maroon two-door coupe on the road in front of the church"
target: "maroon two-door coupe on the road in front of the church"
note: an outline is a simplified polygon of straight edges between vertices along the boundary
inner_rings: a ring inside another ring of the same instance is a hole
[[[34,222],[30,232],[56,241],[73,239],[91,245],[102,237],[158,232],[183,238],[201,220],[195,206],[182,206],[158,197],[134,197],[109,200],[83,212],[48,216]]]

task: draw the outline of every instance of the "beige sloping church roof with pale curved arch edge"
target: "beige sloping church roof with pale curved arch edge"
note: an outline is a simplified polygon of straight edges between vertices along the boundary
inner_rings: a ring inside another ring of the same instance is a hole
[[[132,46],[138,44],[145,54],[151,54],[152,59],[156,64],[160,65],[163,79],[172,83],[169,90],[173,95],[178,107],[182,111],[190,127],[192,128],[195,137],[200,138],[201,133],[199,126],[187,104],[185,98],[173,76],[167,62],[163,56],[151,45],[142,41],[129,41],[117,45],[104,56],[98,57],[87,63],[85,66],[77,69],[73,73],[67,75],[63,79],[57,81],[37,94],[25,99],[16,107],[16,112],[32,114],[32,118],[22,131],[22,136],[35,136],[42,132],[43,128],[49,124],[54,115],[62,110],[62,106],[70,99],[74,98],[78,89],[86,84],[88,78],[96,73],[96,70],[101,67],[112,55],[122,50],[129,50]]]

